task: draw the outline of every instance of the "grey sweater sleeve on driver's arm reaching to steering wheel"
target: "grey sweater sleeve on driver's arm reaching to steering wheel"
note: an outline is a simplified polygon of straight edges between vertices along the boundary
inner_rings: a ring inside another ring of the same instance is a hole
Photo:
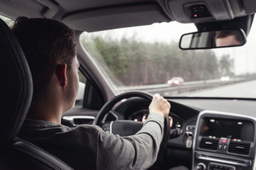
[[[97,169],[147,169],[156,161],[164,132],[164,117],[150,113],[137,134],[127,137],[99,130]]]

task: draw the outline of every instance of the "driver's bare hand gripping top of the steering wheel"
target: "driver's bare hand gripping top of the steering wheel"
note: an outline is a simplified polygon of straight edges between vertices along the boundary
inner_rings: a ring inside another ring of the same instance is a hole
[[[149,105],[149,113],[159,113],[166,118],[169,115],[171,104],[159,94],[155,94]]]

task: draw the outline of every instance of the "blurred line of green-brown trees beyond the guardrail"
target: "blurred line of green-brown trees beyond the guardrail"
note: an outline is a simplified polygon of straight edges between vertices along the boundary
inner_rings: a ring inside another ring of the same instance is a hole
[[[233,75],[229,55],[218,60],[212,50],[180,50],[174,41],[150,43],[135,36],[117,40],[89,35],[80,41],[118,85],[166,84],[171,77],[199,81]]]

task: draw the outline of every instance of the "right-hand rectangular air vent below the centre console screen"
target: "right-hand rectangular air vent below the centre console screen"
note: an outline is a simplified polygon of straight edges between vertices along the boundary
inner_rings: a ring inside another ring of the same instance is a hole
[[[230,141],[228,152],[235,154],[249,154],[250,143]]]

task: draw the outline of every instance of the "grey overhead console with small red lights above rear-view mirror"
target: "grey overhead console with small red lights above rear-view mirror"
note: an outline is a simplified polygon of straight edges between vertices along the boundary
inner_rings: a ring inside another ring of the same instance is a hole
[[[254,0],[167,0],[166,5],[180,23],[225,21],[256,12]]]

